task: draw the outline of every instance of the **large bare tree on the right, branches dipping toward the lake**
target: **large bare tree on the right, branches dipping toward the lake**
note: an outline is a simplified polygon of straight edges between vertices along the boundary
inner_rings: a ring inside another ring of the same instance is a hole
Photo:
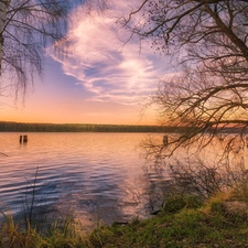
[[[227,136],[226,149],[242,138],[248,131],[248,1],[144,0],[122,21],[141,42],[151,40],[158,53],[171,57],[173,75],[161,79],[151,103],[163,125],[188,127],[168,144],[148,145],[151,153],[169,155],[200,139],[205,147],[227,128],[239,133]]]

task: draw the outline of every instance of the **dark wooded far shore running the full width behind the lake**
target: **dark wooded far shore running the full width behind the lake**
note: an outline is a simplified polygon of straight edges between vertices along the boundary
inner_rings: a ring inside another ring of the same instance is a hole
[[[31,123],[0,121],[0,132],[195,132],[196,127],[174,127],[162,125],[99,125],[99,123]],[[216,133],[216,129],[198,129],[200,133]],[[218,133],[247,133],[244,127],[219,127]]]

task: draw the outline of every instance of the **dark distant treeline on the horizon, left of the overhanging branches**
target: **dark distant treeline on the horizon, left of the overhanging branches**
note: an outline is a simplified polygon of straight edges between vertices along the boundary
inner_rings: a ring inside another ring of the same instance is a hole
[[[184,128],[131,125],[23,123],[0,121],[0,132],[181,132]]]

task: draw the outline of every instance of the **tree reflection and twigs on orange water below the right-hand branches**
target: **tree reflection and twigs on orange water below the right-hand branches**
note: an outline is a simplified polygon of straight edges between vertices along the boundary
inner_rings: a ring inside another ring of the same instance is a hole
[[[209,138],[211,142],[203,149],[198,149],[197,143],[186,149],[180,147],[166,159],[154,150],[145,153],[155,159],[155,166],[145,169],[150,211],[155,212],[173,194],[190,193],[208,198],[247,185],[247,148],[244,149],[241,138],[228,136],[234,139],[228,145],[223,138]]]

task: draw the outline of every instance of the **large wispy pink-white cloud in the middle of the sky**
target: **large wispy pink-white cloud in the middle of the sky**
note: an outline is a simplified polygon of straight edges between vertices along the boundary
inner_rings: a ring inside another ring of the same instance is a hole
[[[91,93],[91,100],[132,104],[154,90],[162,75],[164,58],[149,44],[140,50],[136,37],[125,43],[130,33],[117,18],[128,14],[132,4],[137,3],[119,0],[101,14],[94,10],[86,14],[83,6],[73,17],[67,58],[61,63],[65,74]]]

